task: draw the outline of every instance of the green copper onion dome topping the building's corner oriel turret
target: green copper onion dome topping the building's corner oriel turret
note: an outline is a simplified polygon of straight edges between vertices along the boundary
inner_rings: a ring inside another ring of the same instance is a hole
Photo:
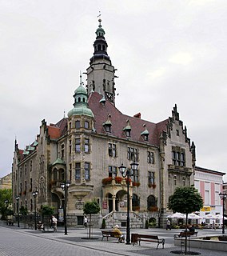
[[[94,114],[92,110],[88,107],[87,104],[87,92],[86,89],[82,86],[82,81],[80,86],[75,90],[74,94],[74,108],[69,111],[68,117],[70,118],[72,115],[86,115],[91,118],[94,118]]]

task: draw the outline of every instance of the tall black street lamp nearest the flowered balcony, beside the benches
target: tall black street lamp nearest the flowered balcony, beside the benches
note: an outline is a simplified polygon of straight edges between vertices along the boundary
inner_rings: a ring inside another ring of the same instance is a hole
[[[126,245],[130,244],[130,216],[129,216],[129,208],[130,208],[130,203],[129,203],[129,177],[133,176],[134,172],[137,170],[138,163],[137,162],[132,162],[130,163],[131,169],[127,169],[123,164],[121,164],[118,169],[120,170],[121,176],[123,178],[127,177],[127,223],[126,223]]]

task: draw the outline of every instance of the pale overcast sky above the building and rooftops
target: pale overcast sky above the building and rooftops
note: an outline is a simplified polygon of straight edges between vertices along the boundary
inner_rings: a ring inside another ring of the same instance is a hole
[[[197,166],[227,173],[226,0],[0,0],[0,177],[15,137],[23,149],[72,109],[99,11],[117,108],[160,122],[176,103]]]

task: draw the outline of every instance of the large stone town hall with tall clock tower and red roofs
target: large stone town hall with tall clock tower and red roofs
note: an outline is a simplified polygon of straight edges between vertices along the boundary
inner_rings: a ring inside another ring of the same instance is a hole
[[[14,147],[13,194],[20,205],[34,211],[32,191],[38,191],[37,208],[64,206],[62,181],[69,180],[67,216],[71,226],[82,225],[83,206],[96,200],[100,214],[94,223],[125,226],[127,182],[132,227],[156,219],[165,225],[169,195],[177,186],[193,185],[195,146],[187,137],[177,106],[171,117],[153,123],[122,114],[115,107],[115,69],[107,54],[101,21],[94,42],[94,56],[87,69],[88,84],[74,94],[68,118],[56,124],[42,121],[37,139],[25,150]],[[138,170],[130,180],[121,177],[119,166]],[[14,199],[14,207],[16,202]],[[15,209],[15,208],[14,208]]]

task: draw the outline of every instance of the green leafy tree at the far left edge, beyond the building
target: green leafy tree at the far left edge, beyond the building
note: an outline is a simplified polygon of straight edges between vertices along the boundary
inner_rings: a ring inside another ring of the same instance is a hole
[[[2,219],[6,219],[6,215],[11,211],[12,203],[12,190],[4,189],[0,190],[0,214],[2,214]]]

